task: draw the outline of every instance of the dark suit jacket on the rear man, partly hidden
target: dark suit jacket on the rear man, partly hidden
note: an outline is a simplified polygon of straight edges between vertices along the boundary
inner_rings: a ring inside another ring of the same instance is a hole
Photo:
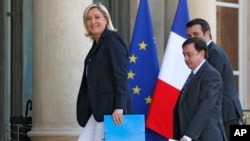
[[[243,111],[235,89],[232,65],[225,51],[214,42],[208,45],[208,62],[219,71],[223,80],[223,121],[241,118]]]

